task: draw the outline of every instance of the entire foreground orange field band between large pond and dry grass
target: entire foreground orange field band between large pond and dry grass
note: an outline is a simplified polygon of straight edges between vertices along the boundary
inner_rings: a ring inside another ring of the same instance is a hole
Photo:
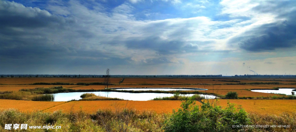
[[[296,100],[218,100],[217,104],[226,107],[227,101],[236,105],[242,105],[247,112],[260,114],[280,114],[295,113]],[[83,110],[87,113],[96,112],[98,109],[121,109],[123,107],[136,110],[154,110],[157,113],[172,113],[178,110],[181,101],[178,100],[151,100],[151,101],[72,101],[72,102],[41,102],[23,100],[0,100],[0,109],[16,108],[20,111],[43,110],[44,112],[54,112],[63,110],[64,112]],[[214,100],[215,102],[215,100]],[[196,102],[196,105],[201,105]]]

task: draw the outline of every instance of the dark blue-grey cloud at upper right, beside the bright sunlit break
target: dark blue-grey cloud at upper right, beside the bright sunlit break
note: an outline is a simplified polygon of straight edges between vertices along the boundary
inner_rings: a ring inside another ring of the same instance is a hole
[[[278,17],[276,19],[285,19],[285,21],[277,21],[252,28],[232,38],[229,43],[236,43],[240,48],[249,51],[295,47],[296,11],[289,11],[295,6],[295,1],[268,1],[261,3],[259,6],[254,7],[253,10],[277,14]]]

